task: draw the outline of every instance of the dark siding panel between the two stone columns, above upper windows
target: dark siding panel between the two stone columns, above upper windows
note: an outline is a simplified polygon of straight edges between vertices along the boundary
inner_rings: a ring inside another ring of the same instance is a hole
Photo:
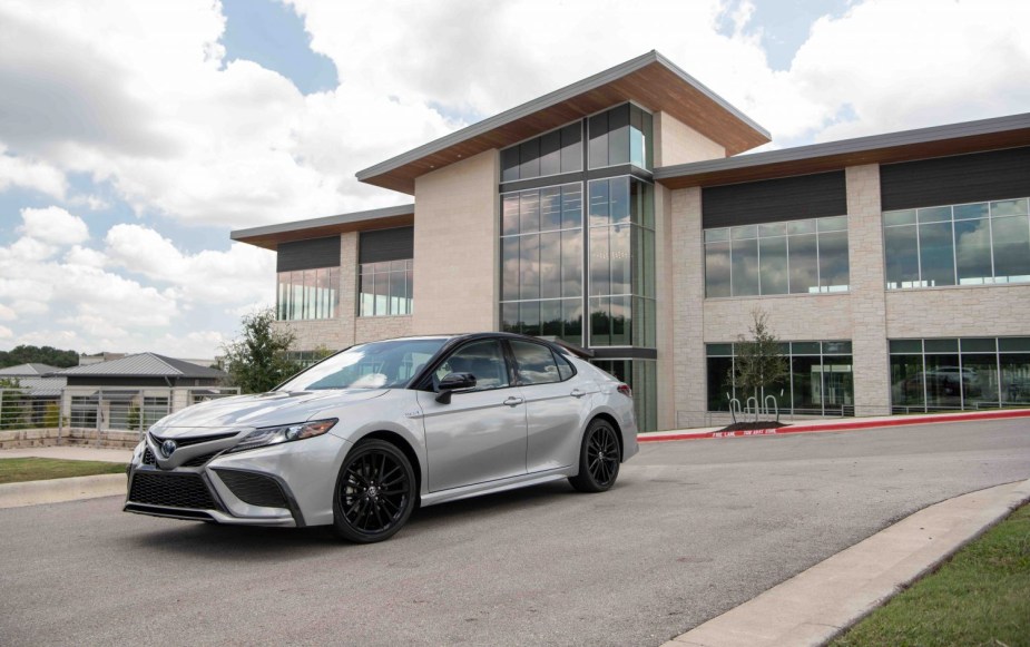
[[[843,170],[702,189],[705,228],[843,216],[846,213],[847,187]]]

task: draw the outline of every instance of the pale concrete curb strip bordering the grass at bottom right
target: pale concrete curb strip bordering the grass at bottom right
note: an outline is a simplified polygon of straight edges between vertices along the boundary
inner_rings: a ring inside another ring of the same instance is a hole
[[[1030,480],[930,506],[663,647],[824,645],[1030,501]]]

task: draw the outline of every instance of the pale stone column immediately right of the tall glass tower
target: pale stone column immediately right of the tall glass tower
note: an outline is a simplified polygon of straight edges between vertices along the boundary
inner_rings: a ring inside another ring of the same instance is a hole
[[[671,192],[674,410],[677,428],[705,424],[705,257],[700,188]],[[660,273],[660,272],[659,272]]]

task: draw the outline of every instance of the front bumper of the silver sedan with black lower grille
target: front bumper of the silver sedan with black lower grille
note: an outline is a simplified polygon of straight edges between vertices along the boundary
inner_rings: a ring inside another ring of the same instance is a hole
[[[170,461],[156,459],[160,454],[148,435],[129,468],[124,510],[242,526],[303,527],[332,520],[332,494],[346,453],[345,441],[324,434],[239,453],[217,453],[235,441],[192,445],[190,453],[213,458],[206,462],[189,459],[171,467],[167,464]]]

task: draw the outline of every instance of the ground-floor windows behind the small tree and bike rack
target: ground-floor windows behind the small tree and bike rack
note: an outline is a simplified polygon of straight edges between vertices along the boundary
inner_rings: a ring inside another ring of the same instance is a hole
[[[784,342],[789,374],[766,388],[779,410],[798,415],[854,415],[851,342]],[[743,405],[752,396],[733,382],[734,344],[707,344],[708,411],[729,411],[729,399]]]

